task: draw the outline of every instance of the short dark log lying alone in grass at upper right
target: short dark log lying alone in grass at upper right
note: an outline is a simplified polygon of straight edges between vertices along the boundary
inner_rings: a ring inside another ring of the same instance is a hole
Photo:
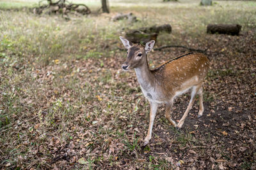
[[[232,36],[238,36],[241,31],[241,25],[239,24],[209,24],[207,25],[206,32],[208,34],[228,34]]]

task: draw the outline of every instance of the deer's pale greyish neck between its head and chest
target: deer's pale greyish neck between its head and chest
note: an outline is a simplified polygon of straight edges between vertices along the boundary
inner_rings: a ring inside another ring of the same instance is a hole
[[[140,86],[144,90],[150,90],[154,88],[154,76],[148,68],[147,60],[145,60],[142,66],[136,67],[135,72]]]

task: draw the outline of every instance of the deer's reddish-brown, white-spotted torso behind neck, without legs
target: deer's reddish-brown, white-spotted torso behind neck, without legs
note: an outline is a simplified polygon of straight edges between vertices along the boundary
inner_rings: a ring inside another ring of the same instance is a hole
[[[184,90],[204,81],[209,69],[209,60],[202,53],[188,53],[164,62],[152,74],[167,92]]]

